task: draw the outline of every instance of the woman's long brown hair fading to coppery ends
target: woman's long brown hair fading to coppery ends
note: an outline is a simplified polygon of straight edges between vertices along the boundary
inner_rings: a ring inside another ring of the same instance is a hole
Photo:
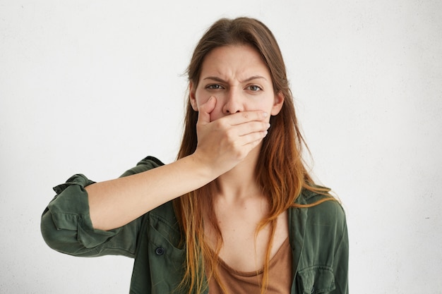
[[[275,233],[277,216],[289,207],[299,206],[295,204],[295,200],[303,188],[318,192],[327,192],[327,189],[316,188],[304,166],[302,147],[306,145],[294,111],[285,63],[273,33],[263,23],[253,18],[235,18],[233,20],[223,18],[214,23],[205,32],[193,51],[187,69],[189,82],[193,83],[193,87],[198,86],[203,61],[210,51],[217,47],[244,44],[253,47],[261,54],[263,62],[270,71],[275,94],[281,93],[285,98],[280,113],[270,117],[271,127],[268,130],[268,135],[263,139],[255,171],[257,183],[263,194],[268,197],[270,208],[268,216],[258,224],[256,230],[257,234],[264,226],[270,224],[271,235],[265,257],[261,287],[261,293],[263,293],[267,286],[268,261],[270,260],[270,247]],[[178,159],[193,154],[196,150],[197,120],[198,113],[191,106],[189,93],[184,134]],[[217,254],[222,246],[222,235],[213,213],[211,199],[208,197],[213,190],[214,182],[174,200],[186,250],[186,274],[181,286],[189,287],[189,293],[192,289],[196,289],[196,293],[201,293],[201,290],[207,286],[204,283],[205,271],[208,273],[208,278],[215,278],[220,282],[217,273]],[[217,233],[215,254],[204,238],[203,220],[210,223]],[[222,285],[221,287],[223,288]]]

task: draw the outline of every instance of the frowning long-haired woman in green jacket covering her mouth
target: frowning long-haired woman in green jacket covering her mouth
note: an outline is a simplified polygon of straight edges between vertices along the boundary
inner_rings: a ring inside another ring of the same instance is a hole
[[[313,183],[282,54],[252,18],[218,20],[188,68],[177,161],[54,188],[47,244],[135,257],[131,293],[347,293],[345,214]]]

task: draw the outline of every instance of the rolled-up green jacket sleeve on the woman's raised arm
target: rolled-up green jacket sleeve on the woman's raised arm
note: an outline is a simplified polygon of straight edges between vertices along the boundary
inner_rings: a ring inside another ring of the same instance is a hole
[[[146,157],[122,176],[141,173],[162,165],[155,157]],[[41,231],[52,249],[76,256],[125,255],[134,257],[138,233],[145,216],[111,231],[92,227],[88,192],[93,182],[76,174],[54,188],[56,196],[42,214]]]

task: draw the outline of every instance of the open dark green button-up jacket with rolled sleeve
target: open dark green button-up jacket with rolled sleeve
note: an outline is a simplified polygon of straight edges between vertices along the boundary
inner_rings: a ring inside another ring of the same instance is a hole
[[[122,176],[160,165],[155,157],[146,157]],[[84,190],[91,183],[94,182],[78,174],[54,188],[57,195],[42,214],[41,230],[47,245],[81,257],[134,257],[131,294],[176,290],[183,276],[185,250],[179,247],[179,226],[172,202],[121,228],[96,230],[92,228],[88,194]],[[304,191],[297,202],[309,204],[321,197]],[[347,224],[338,202],[289,209],[289,240],[294,273],[291,293],[348,293]]]

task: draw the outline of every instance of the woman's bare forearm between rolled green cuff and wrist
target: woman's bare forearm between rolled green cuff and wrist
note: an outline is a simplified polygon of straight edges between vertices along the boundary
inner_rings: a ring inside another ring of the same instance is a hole
[[[133,176],[88,185],[90,219],[94,228],[119,228],[217,177],[195,155]]]

